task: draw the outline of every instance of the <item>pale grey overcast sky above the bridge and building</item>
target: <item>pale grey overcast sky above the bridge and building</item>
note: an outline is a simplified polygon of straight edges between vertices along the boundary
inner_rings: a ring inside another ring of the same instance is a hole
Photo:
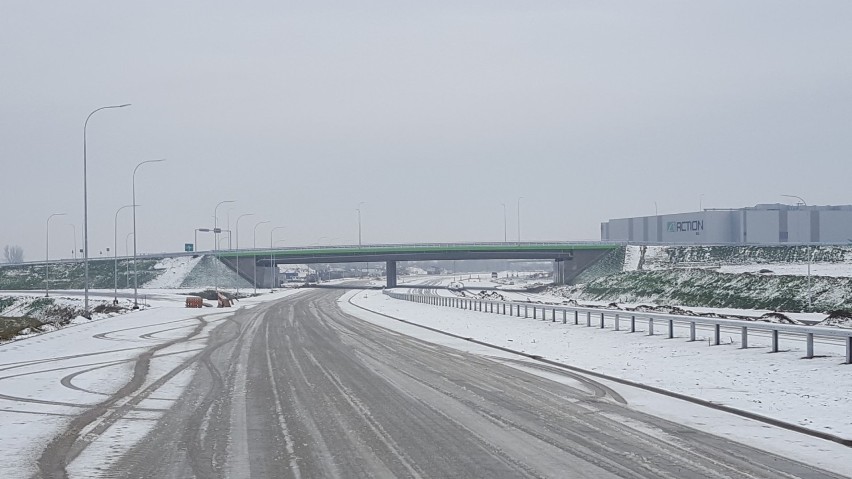
[[[51,213],[51,257],[82,236],[83,122],[121,103],[88,127],[93,257],[154,158],[141,252],[222,200],[223,226],[254,213],[240,247],[261,220],[279,246],[356,243],[359,202],[365,243],[502,241],[501,203],[513,240],[520,196],[523,240],[655,202],[852,203],[848,0],[4,0],[0,62],[0,246],[27,260]]]

